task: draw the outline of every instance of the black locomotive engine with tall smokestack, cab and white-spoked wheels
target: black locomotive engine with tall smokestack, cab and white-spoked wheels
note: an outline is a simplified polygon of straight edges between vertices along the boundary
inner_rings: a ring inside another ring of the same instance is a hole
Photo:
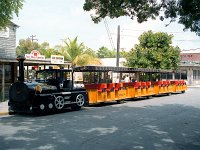
[[[24,81],[24,58],[18,57],[19,78],[9,89],[9,112],[46,113],[71,107],[79,110],[87,101],[84,86],[74,84],[72,70],[45,69],[40,73],[53,73],[51,79]],[[72,79],[64,78],[71,73]]]

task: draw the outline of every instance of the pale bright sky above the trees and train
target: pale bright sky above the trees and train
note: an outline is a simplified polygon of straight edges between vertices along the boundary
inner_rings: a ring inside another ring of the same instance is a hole
[[[107,17],[106,23],[102,20],[94,24],[91,12],[85,12],[83,4],[84,0],[26,0],[19,16],[13,18],[13,22],[20,26],[17,29],[17,44],[20,39],[34,35],[39,43],[48,42],[53,48],[63,44],[64,39],[78,36],[79,43],[83,42],[93,50],[102,46],[113,49],[117,47],[117,28],[120,26],[120,48],[125,51],[138,44],[138,37],[148,30],[173,34],[173,46],[179,46],[181,50],[200,48],[200,37],[190,31],[184,32],[184,26],[176,22],[166,27],[169,20],[149,20],[139,24],[136,18]]]

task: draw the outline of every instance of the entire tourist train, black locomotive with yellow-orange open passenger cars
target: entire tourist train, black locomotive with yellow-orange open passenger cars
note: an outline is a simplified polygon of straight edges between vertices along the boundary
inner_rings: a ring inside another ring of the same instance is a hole
[[[97,103],[120,103],[126,99],[171,95],[187,90],[184,80],[162,79],[161,74],[172,73],[172,70],[128,67],[43,69],[36,72],[34,80],[24,81],[24,58],[19,57],[18,61],[19,78],[9,89],[10,114],[48,113],[68,107],[79,110]],[[130,75],[129,81],[122,80],[124,74],[126,77]]]

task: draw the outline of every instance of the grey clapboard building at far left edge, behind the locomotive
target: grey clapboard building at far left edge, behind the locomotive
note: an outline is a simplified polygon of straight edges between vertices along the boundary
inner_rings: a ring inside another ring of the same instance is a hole
[[[0,31],[0,101],[8,97],[10,84],[16,80],[16,29],[12,22]]]

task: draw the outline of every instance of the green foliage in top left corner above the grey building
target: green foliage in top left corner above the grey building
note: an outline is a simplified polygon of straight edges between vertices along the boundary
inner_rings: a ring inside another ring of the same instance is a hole
[[[0,1],[0,29],[5,28],[13,14],[18,16],[19,10],[23,6],[24,0],[1,0]]]

